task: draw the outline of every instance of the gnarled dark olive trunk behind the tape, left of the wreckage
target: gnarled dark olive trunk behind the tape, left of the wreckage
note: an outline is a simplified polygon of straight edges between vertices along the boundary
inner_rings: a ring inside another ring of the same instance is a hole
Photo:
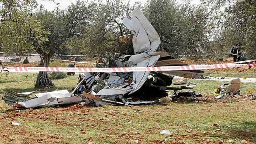
[[[51,55],[45,55],[41,57],[40,67],[48,67],[50,63]],[[35,88],[46,88],[54,86],[48,77],[47,72],[39,72],[35,83]]]

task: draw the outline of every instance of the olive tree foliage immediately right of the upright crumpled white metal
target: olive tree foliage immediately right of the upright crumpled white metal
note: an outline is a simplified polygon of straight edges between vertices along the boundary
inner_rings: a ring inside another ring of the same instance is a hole
[[[175,0],[151,0],[144,13],[159,33],[160,51],[174,56],[190,54],[196,58],[209,53],[212,30],[211,16],[203,5],[191,6],[189,1],[179,5]]]

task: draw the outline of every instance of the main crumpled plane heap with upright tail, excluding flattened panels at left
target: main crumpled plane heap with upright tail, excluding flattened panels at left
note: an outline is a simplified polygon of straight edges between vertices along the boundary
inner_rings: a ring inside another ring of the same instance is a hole
[[[124,18],[123,24],[133,34],[119,38],[121,44],[133,44],[135,55],[124,55],[113,62],[106,62],[102,67],[153,67],[187,65],[170,56],[167,52],[156,51],[161,43],[160,37],[147,18],[135,8],[131,19]],[[84,73],[80,76],[80,88],[76,93],[83,94],[87,102],[115,105],[136,105],[158,103],[162,97],[168,97],[168,90],[181,90],[193,88],[195,85],[181,88],[168,87],[173,77],[197,78],[202,75],[201,70],[162,72],[109,72]],[[169,75],[171,74],[171,75]]]

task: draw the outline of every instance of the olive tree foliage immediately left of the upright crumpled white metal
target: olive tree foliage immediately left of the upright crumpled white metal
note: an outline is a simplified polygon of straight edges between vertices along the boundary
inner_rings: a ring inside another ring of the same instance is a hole
[[[86,54],[98,54],[100,58],[133,54],[132,45],[120,45],[118,38],[130,33],[122,24],[122,19],[124,16],[129,16],[134,7],[122,0],[106,3],[99,1],[84,35]]]

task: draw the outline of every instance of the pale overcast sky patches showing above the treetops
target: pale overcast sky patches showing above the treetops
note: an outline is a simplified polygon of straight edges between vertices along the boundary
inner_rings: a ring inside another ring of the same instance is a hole
[[[39,5],[44,5],[47,10],[54,10],[55,7],[59,7],[61,9],[67,8],[70,3],[75,3],[76,0],[54,0],[55,3],[59,3],[59,5],[56,5],[53,1],[49,0],[38,0]],[[128,1],[128,0],[127,0]],[[134,4],[136,1],[141,1],[142,3],[145,3],[147,0],[130,0],[131,4]],[[179,3],[183,3],[185,0],[177,0]],[[200,4],[200,0],[191,0],[191,4]]]

